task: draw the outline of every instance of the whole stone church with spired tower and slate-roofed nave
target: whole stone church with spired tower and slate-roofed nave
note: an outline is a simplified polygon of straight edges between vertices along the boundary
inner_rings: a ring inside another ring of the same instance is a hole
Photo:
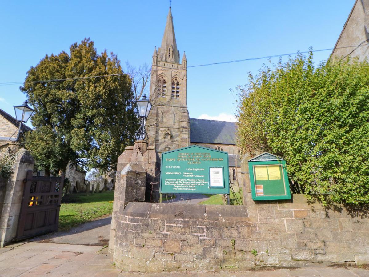
[[[191,91],[189,92],[191,94]],[[163,152],[199,145],[228,152],[229,174],[234,190],[241,180],[241,161],[235,122],[190,118],[187,110],[187,58],[177,49],[173,17],[169,8],[161,46],[152,55],[151,111],[146,120],[149,145]]]

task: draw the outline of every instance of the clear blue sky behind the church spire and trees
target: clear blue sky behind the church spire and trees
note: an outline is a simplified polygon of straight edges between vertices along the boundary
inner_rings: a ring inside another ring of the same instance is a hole
[[[354,0],[214,1],[173,0],[180,58],[187,66],[332,48]],[[23,82],[46,54],[68,51],[90,37],[122,65],[151,64],[169,1],[3,1],[0,11],[0,83]],[[331,51],[314,54],[315,62]],[[287,58],[283,58],[286,60]],[[276,62],[277,58],[272,59]],[[187,105],[192,118],[227,120],[236,110],[229,91],[247,82],[267,59],[189,68]],[[25,96],[19,84],[0,85],[0,108],[14,115]]]

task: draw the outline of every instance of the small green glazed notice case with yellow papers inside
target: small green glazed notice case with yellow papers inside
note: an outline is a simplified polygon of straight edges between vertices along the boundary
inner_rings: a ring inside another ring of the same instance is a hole
[[[253,200],[291,199],[285,160],[265,152],[248,165]]]

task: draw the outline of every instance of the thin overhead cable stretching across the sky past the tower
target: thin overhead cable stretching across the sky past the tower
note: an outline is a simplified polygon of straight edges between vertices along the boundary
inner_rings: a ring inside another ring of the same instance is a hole
[[[318,50],[311,50],[311,51],[286,53],[286,54],[279,54],[279,55],[263,56],[263,57],[258,57],[258,58],[247,58],[247,59],[241,59],[241,60],[229,60],[227,62],[214,62],[214,63],[206,63],[206,64],[203,64],[203,65],[191,65],[191,66],[187,66],[187,68],[200,67],[200,66],[210,66],[210,65],[221,65],[221,64],[225,64],[225,63],[246,62],[246,61],[249,61],[249,60],[271,59],[271,58],[277,58],[277,57],[283,57],[283,56],[290,56],[290,55],[297,55],[297,54],[306,54],[306,53],[310,53],[310,52],[322,52],[322,51],[329,51],[329,50],[333,50],[333,49],[343,49],[343,48],[355,47],[355,49],[352,50],[349,53],[349,54],[351,54],[357,48],[359,48],[360,46],[362,46],[364,42],[368,42],[368,41],[369,41],[369,39],[367,39],[365,41],[362,41],[358,45],[341,46],[341,47],[336,47],[336,48],[326,48],[326,49],[318,49]],[[348,55],[346,55],[346,56],[348,56]],[[346,58],[346,56],[344,58]],[[138,71],[138,72],[133,72],[131,74],[146,73],[146,72],[152,72],[152,70],[149,70],[149,71],[141,71],[141,72]],[[31,82],[28,82],[28,83],[44,83],[44,82],[69,81],[69,80],[82,80],[82,79],[91,79],[91,78],[108,77],[108,76],[119,76],[119,75],[124,75],[124,74],[127,74],[127,73],[107,74],[107,75],[97,75],[97,76],[86,76],[86,77],[74,77],[74,78],[65,78],[65,79],[38,80],[38,81],[31,81]],[[5,83],[0,83],[0,86],[11,86],[11,85],[23,84],[23,83],[24,82],[5,82]]]

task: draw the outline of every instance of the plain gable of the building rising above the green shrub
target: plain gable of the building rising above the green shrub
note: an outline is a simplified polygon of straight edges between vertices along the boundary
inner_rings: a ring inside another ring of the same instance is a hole
[[[352,46],[352,47],[347,47]],[[356,0],[334,46],[332,57],[369,58],[369,0]]]

